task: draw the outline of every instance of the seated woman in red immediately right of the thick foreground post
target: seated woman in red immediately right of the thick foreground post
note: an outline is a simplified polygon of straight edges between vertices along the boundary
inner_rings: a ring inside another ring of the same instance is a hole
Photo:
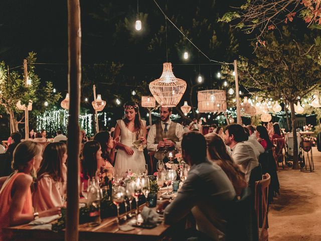
[[[101,156],[102,151],[99,142],[88,141],[85,143],[82,150],[82,173],[80,174],[80,181],[84,183],[87,188],[88,179],[99,176],[101,168],[104,167],[105,160]]]

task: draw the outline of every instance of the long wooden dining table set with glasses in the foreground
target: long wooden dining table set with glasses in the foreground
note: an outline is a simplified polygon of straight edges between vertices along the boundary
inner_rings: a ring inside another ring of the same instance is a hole
[[[140,207],[142,209],[142,206]],[[156,209],[156,208],[154,208]],[[55,222],[55,221],[54,221]],[[54,232],[51,230],[31,229],[32,225],[24,224],[3,229],[5,234],[4,240],[46,240],[57,241],[64,240],[64,231]],[[160,240],[162,237],[169,235],[172,228],[165,225],[164,222],[152,229],[144,229],[136,227],[130,231],[121,231],[118,229],[116,217],[105,218],[101,224],[96,227],[89,227],[88,223],[79,225],[79,240]]]

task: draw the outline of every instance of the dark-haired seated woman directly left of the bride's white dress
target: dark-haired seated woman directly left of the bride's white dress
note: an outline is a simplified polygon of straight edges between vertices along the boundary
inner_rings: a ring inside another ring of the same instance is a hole
[[[118,137],[119,139],[119,137]],[[94,141],[99,142],[101,147],[101,156],[105,160],[105,167],[112,168],[112,164],[115,161],[115,144],[116,141],[112,139],[109,132],[99,132],[94,136]]]

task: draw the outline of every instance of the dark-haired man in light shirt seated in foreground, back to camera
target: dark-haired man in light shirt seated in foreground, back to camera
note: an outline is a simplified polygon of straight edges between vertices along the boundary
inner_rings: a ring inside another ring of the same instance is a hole
[[[165,223],[176,223],[192,211],[197,229],[219,240],[224,237],[229,206],[236,196],[233,185],[218,165],[207,160],[206,141],[199,132],[183,135],[182,156],[191,169],[165,209]]]

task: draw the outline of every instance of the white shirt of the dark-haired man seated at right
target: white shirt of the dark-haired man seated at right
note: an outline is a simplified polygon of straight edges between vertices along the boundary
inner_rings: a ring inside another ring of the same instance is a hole
[[[253,147],[244,142],[237,143],[232,148],[232,158],[236,164],[241,166],[246,181],[249,182],[252,169],[259,165]]]

